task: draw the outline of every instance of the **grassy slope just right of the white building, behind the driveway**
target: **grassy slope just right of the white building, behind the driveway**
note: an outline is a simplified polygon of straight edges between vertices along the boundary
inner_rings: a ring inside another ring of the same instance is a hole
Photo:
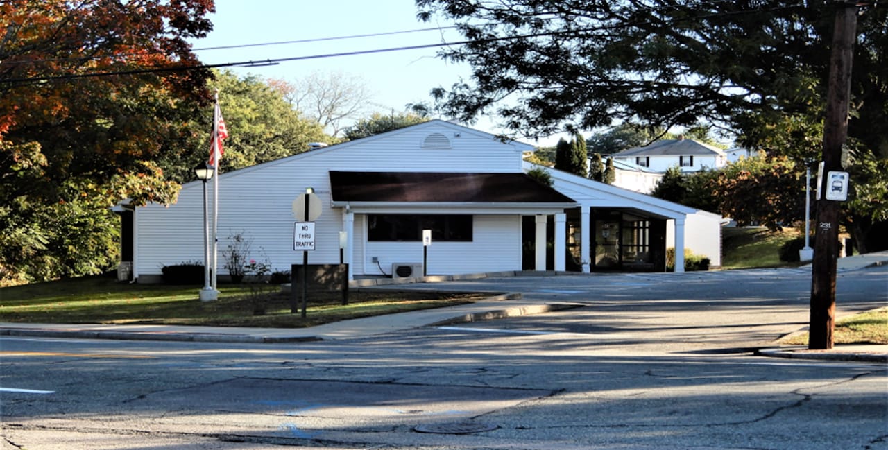
[[[722,268],[749,269],[791,265],[780,260],[780,248],[803,233],[786,228],[770,232],[767,228],[722,228]]]

